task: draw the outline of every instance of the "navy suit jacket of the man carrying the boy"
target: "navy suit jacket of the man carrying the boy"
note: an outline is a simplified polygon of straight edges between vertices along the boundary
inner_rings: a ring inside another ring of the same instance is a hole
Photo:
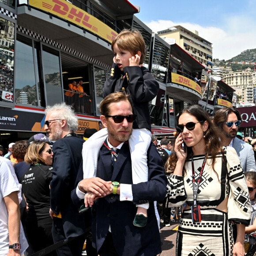
[[[106,143],[106,141],[105,141]],[[97,177],[105,181],[117,181],[120,184],[132,184],[132,163],[128,143],[124,143],[112,172],[112,156],[102,146],[98,156]],[[110,194],[100,198],[92,207],[93,245],[97,251],[101,248],[111,228],[113,243],[122,256],[154,256],[161,250],[160,234],[154,211],[154,201],[162,201],[166,196],[167,179],[162,167],[162,159],[156,147],[151,143],[147,151],[148,181],[132,184],[133,201],[120,201],[119,195]],[[83,179],[81,169],[78,181]],[[81,200],[75,190],[72,200],[79,207]],[[83,201],[83,200],[82,200]],[[149,203],[147,225],[143,228],[132,224],[136,215],[136,204]]]

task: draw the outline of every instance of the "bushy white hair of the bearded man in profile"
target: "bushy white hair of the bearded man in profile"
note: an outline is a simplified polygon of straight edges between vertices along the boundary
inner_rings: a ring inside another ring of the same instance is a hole
[[[70,132],[76,132],[78,123],[78,118],[75,116],[74,110],[71,106],[63,103],[58,103],[53,106],[46,106],[45,115],[48,113],[54,113],[54,119],[65,119],[68,125],[68,129]]]

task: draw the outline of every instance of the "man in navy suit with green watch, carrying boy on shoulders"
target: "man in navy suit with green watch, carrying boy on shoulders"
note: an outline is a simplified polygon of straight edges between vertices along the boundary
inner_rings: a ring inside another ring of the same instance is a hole
[[[100,256],[156,256],[161,252],[161,242],[154,201],[165,198],[167,181],[161,157],[151,143],[146,152],[148,180],[135,184],[128,143],[135,115],[128,96],[109,94],[99,110],[108,136],[97,154],[96,177],[83,179],[83,169],[79,169],[80,182],[72,191],[72,200],[78,209],[83,202],[86,207],[93,205],[93,245]],[[139,203],[149,203],[143,228],[133,225]]]

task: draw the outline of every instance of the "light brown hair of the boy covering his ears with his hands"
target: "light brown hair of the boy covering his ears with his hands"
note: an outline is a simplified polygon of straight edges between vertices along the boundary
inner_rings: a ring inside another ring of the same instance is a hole
[[[131,52],[134,56],[138,51],[140,51],[141,56],[139,64],[143,64],[145,57],[145,41],[138,30],[122,30],[112,41],[112,51],[114,44],[117,44],[119,49]]]

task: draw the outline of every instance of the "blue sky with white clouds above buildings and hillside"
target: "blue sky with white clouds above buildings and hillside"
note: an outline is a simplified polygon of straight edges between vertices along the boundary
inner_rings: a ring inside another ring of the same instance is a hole
[[[154,32],[181,25],[212,43],[213,58],[228,60],[256,48],[256,0],[130,0]]]

